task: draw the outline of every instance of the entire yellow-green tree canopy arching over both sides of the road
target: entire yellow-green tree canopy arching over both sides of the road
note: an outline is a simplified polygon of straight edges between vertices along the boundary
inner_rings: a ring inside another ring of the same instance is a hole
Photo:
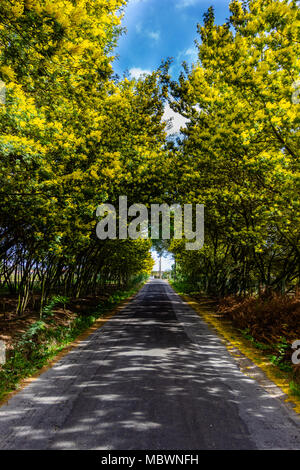
[[[177,276],[200,290],[295,290],[297,2],[234,0],[221,26],[210,8],[198,60],[177,82],[163,67],[140,80],[113,75],[125,4],[1,1],[1,286],[22,314],[34,291],[42,309],[52,293],[78,297],[149,273],[149,241],[95,235],[97,206],[126,195],[129,204],[205,204],[204,248],[168,247]],[[166,84],[188,119],[177,144],[162,122]]]

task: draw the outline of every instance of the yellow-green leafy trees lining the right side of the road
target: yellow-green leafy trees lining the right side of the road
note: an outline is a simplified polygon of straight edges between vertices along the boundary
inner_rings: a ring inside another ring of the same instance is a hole
[[[232,1],[199,26],[198,61],[171,83],[189,119],[176,152],[177,194],[205,204],[204,249],[171,249],[180,272],[210,294],[299,286],[300,72],[295,1]]]

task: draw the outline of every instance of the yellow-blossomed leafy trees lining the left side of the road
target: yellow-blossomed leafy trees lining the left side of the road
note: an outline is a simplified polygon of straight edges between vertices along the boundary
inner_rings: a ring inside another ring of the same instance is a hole
[[[123,0],[0,5],[0,276],[24,312],[34,290],[80,296],[152,268],[147,240],[100,241],[99,204],[144,202],[163,174],[158,73],[114,77]]]

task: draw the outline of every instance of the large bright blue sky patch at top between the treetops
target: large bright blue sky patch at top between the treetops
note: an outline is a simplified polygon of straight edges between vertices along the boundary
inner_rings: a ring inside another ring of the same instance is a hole
[[[202,23],[210,5],[215,7],[216,23],[224,23],[228,0],[129,0],[123,21],[127,33],[119,39],[115,71],[138,76],[173,57],[171,73],[177,78],[181,63],[196,58],[197,23]]]

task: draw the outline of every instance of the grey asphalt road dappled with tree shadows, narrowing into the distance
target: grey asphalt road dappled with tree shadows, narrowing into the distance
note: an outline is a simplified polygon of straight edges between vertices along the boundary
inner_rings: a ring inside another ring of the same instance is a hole
[[[164,281],[0,408],[0,449],[300,449],[299,429]]]

